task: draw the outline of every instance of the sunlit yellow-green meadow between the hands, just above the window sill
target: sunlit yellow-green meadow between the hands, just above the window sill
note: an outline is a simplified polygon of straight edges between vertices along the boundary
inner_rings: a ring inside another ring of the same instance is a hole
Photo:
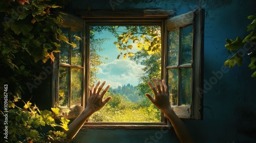
[[[141,107],[113,92],[106,93],[112,99],[90,117],[90,122],[160,122],[161,111],[153,104]]]

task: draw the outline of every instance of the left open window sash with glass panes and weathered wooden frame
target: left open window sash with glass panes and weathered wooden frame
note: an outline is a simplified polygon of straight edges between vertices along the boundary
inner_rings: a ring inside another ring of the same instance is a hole
[[[60,53],[52,63],[54,72],[53,107],[62,109],[67,118],[77,117],[85,107],[85,23],[84,20],[68,14],[61,14],[65,19],[61,27],[67,42],[60,43]]]

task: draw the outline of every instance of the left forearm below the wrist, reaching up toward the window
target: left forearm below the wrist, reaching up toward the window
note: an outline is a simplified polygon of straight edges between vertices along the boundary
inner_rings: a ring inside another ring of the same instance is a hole
[[[87,118],[89,118],[92,113],[89,110],[83,110],[82,113],[74,120],[68,127],[69,130],[65,131],[68,139],[72,139],[80,128],[86,123]]]

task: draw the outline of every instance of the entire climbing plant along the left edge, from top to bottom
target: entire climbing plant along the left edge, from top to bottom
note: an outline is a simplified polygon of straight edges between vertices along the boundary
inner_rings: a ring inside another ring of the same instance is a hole
[[[55,118],[60,115],[58,108],[52,108],[52,111],[39,110],[35,105],[32,106],[30,101],[24,102],[24,107],[16,106],[20,104],[18,101],[23,102],[21,95],[30,96],[26,82],[33,81],[42,65],[54,61],[54,53],[60,52],[60,43],[66,42],[73,47],[76,46],[75,43],[69,43],[68,38],[60,30],[63,22],[62,13],[54,12],[55,9],[61,8],[60,5],[62,6],[64,2],[0,2],[0,101],[4,105],[0,114],[7,111],[9,113],[8,122],[5,123],[8,125],[8,135],[5,136],[9,137],[9,142],[69,141],[62,131],[49,131],[48,128],[46,134],[39,131],[45,126],[59,126],[68,130],[69,120],[66,118],[59,117],[60,124],[55,123]]]

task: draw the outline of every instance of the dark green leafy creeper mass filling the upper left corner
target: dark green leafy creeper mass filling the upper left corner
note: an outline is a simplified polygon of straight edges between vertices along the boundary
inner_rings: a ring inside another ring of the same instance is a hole
[[[15,87],[10,89],[10,95],[22,94],[26,88],[24,83],[33,81],[32,75],[37,73],[38,67],[49,59],[54,61],[54,53],[60,52],[58,43],[67,42],[60,30],[63,19],[52,12],[61,2],[0,2],[1,12],[5,13],[0,27],[0,66],[4,69],[0,83]]]

